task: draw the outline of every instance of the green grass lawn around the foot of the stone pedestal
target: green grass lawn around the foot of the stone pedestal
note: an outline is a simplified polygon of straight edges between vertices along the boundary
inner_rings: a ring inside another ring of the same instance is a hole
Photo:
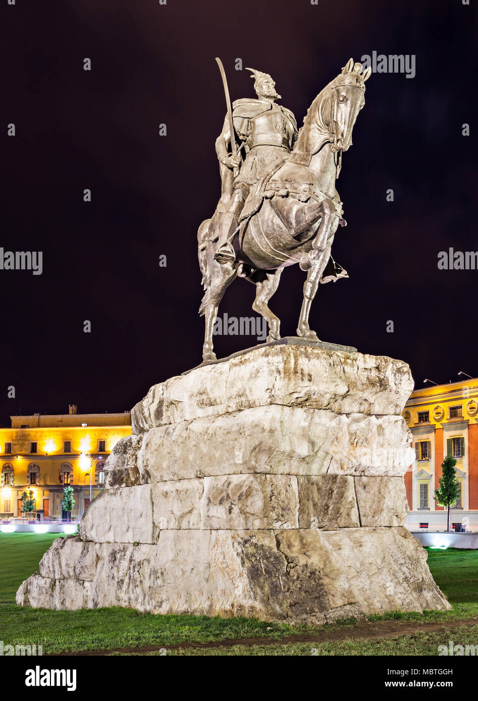
[[[100,650],[148,645],[172,645],[185,641],[208,642],[235,638],[280,639],[287,634],[319,632],[321,628],[292,627],[252,618],[207,618],[192,615],[152,615],[124,608],[88,611],[46,611],[15,604],[22,580],[38,569],[55,533],[0,533],[0,639],[4,644],[41,644],[44,654],[61,651]],[[453,606],[452,611],[425,613],[390,612],[370,620],[459,620],[478,617],[478,550],[428,550],[432,574]],[[354,620],[333,627],[354,626]],[[478,620],[477,620],[478,623]],[[446,640],[444,639],[446,637]],[[322,644],[278,644],[233,648],[188,648],[168,655],[436,655],[437,645],[454,639],[478,644],[478,626],[453,628],[444,634],[417,633],[383,641],[337,641]],[[157,653],[151,653],[157,654]]]

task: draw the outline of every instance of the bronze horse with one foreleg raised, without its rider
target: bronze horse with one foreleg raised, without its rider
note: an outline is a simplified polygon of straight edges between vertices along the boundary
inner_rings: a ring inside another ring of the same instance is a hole
[[[319,341],[309,327],[312,299],[319,283],[347,277],[331,258],[338,225],[345,226],[342,203],[336,191],[341,152],[352,145],[352,129],[365,103],[365,81],[352,59],[317,95],[307,111],[298,140],[287,160],[258,182],[246,200],[237,234],[232,242],[236,260],[214,260],[217,242],[211,240],[211,219],[199,226],[199,266],[205,294],[199,308],[204,314],[203,361],[216,360],[213,325],[223,294],[237,276],[256,285],[253,310],[267,320],[267,341],[280,338],[280,320],[268,302],[277,290],[281,272],[298,263],[307,271],[298,336]]]

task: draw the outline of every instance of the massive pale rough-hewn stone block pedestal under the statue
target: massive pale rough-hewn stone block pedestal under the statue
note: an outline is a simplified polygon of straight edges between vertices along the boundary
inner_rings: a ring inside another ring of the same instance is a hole
[[[23,606],[325,622],[446,609],[404,528],[413,388],[390,358],[256,348],[151,388]]]

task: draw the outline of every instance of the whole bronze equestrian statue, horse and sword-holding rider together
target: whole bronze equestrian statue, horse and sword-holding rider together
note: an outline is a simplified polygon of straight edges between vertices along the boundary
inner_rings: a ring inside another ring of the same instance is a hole
[[[348,277],[331,257],[338,226],[345,226],[336,190],[341,156],[352,145],[352,129],[365,103],[371,68],[350,59],[321,90],[297,130],[293,113],[276,104],[280,95],[266,73],[248,69],[258,99],[230,104],[223,65],[227,115],[215,143],[221,196],[211,219],[198,231],[205,317],[203,362],[216,360],[213,327],[218,306],[232,280],[256,286],[253,310],[267,320],[266,342],[280,338],[280,320],[268,302],[281,272],[298,263],[307,271],[297,334],[319,341],[309,327],[319,283]]]

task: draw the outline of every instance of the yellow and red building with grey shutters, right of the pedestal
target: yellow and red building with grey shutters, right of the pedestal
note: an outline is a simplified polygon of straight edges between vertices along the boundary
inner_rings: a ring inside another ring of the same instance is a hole
[[[415,450],[415,462],[405,475],[406,525],[412,531],[446,530],[446,512],[433,497],[448,454],[456,458],[460,485],[451,522],[456,530],[478,531],[478,378],[415,390],[403,416]]]

